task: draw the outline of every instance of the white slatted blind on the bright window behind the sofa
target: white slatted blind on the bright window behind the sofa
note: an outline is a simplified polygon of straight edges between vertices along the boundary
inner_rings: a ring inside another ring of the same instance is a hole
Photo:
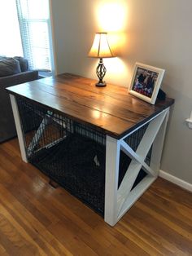
[[[16,7],[29,68],[51,73],[49,0],[16,0]]]

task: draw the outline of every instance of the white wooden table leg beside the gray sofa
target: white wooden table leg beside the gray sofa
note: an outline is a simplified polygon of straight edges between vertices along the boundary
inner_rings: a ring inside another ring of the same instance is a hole
[[[18,136],[19,143],[20,143],[21,157],[22,157],[23,161],[25,161],[27,163],[28,158],[27,158],[26,149],[25,149],[24,134],[23,134],[23,130],[21,128],[20,113],[19,113],[19,110],[18,110],[18,106],[17,106],[17,103],[16,103],[15,96],[10,95],[10,99],[11,99],[11,106],[12,106],[12,110],[13,110],[13,116],[14,116],[14,119],[15,119],[15,126],[16,126],[17,136]]]

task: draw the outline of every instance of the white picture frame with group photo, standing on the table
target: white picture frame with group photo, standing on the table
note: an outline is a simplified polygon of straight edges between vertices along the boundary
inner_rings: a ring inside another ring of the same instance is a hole
[[[165,70],[136,62],[129,93],[150,104],[155,104]]]

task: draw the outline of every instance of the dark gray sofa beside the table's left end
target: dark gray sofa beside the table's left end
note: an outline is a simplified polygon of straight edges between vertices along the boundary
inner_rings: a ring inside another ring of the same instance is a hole
[[[5,88],[38,79],[36,70],[28,70],[22,57],[0,56],[0,143],[16,136],[10,97]]]

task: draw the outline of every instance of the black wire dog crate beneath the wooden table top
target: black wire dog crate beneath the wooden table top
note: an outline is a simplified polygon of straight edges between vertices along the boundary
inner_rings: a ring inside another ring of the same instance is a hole
[[[104,215],[106,135],[63,113],[17,98],[28,162]],[[142,126],[125,140],[134,151],[146,131]],[[152,147],[151,147],[152,148]],[[151,150],[146,156],[150,165]],[[119,183],[131,159],[120,151]],[[146,173],[140,170],[133,188]]]

